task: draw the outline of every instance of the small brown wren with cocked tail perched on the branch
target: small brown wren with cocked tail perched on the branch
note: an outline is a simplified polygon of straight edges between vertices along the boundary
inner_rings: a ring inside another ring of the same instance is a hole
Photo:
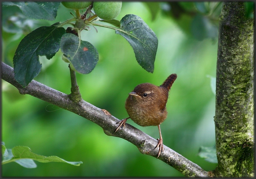
[[[160,124],[166,119],[166,103],[168,93],[172,87],[173,82],[176,80],[177,75],[171,74],[163,82],[162,85],[156,86],[151,83],[142,83],[134,88],[125,101],[125,109],[129,115],[128,118],[121,120],[115,132],[123,126],[125,122],[131,118],[133,122],[140,126],[158,126],[160,139],[157,139],[158,144],[154,148],[159,147],[157,158],[163,152],[163,139],[160,130]]]

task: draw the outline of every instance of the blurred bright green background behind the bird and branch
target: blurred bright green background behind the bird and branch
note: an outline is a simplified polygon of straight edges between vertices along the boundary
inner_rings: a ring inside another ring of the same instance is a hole
[[[138,65],[132,47],[121,35],[112,29],[96,27],[98,33],[94,28],[82,32],[82,40],[89,41],[98,50],[98,64],[88,75],[76,73],[76,77],[85,101],[123,119],[128,117],[125,99],[136,85],[145,82],[161,85],[167,76],[177,73],[167,102],[168,117],[161,124],[163,144],[204,170],[214,170],[217,164],[200,158],[198,151],[200,146],[215,145],[215,94],[211,86],[215,88],[211,78],[216,74],[218,18],[209,21],[205,16],[209,12],[200,10],[198,4],[196,8],[193,2],[177,4],[183,9],[180,13],[175,13],[174,10],[178,10],[175,4],[156,3],[156,7],[161,8],[152,20],[145,3],[123,2],[116,18],[121,20],[126,14],[136,14],[156,33],[158,50],[153,73]],[[3,8],[2,18],[8,16],[8,12],[11,14],[11,8],[16,7]],[[220,9],[221,5],[216,17]],[[27,33],[42,25],[70,19],[69,12],[73,10],[60,4],[54,21],[30,19],[23,31],[3,30],[3,61],[13,66],[15,50]],[[69,68],[61,55],[59,51],[50,60],[40,57],[42,70],[35,80],[69,94]],[[159,138],[157,126],[141,127],[132,120],[127,123]],[[2,166],[3,177],[183,176],[164,162],[142,155],[128,141],[105,135],[102,128],[89,120],[35,97],[21,95],[3,80],[2,141],[9,149],[28,146],[36,154],[83,162],[80,166],[36,162],[35,169],[11,162]]]

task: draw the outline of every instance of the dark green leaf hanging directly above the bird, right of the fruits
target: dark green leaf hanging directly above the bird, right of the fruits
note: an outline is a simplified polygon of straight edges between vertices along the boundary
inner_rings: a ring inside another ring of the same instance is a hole
[[[139,65],[153,73],[158,46],[156,34],[134,14],[125,15],[120,23],[121,29],[116,29],[115,33],[122,35],[130,43]]]

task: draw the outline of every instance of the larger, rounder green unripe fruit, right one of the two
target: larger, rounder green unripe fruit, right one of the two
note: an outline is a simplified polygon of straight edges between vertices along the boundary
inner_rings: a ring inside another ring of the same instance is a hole
[[[122,2],[93,2],[95,14],[105,20],[114,19],[120,13]]]

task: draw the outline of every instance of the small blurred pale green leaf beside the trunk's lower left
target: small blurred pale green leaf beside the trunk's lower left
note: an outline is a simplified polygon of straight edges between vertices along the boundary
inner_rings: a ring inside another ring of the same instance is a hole
[[[201,158],[204,158],[206,161],[211,163],[218,163],[217,155],[216,155],[216,146],[214,147],[204,147],[201,146],[198,152],[198,155]]]

